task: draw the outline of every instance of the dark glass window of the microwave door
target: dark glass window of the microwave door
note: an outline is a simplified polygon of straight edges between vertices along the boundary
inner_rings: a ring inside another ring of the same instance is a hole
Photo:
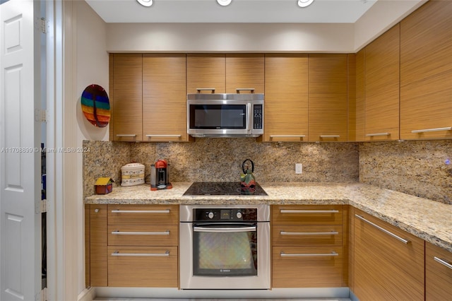
[[[246,129],[246,105],[190,105],[190,129]]]

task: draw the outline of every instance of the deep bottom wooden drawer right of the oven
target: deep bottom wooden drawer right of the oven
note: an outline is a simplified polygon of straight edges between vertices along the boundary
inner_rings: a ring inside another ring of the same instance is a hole
[[[341,247],[273,247],[273,288],[343,286]]]

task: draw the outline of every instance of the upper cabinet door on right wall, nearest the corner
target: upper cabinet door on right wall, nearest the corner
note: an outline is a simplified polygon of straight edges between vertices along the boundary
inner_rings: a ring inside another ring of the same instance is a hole
[[[365,140],[399,138],[400,28],[394,26],[365,48]]]

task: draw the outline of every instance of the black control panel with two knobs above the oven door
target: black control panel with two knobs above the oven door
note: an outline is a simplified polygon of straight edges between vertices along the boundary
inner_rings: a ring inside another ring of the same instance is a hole
[[[194,221],[257,221],[257,208],[196,208]]]

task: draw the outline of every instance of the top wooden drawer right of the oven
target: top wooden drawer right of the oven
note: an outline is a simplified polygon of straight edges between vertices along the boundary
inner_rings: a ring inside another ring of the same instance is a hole
[[[342,225],[343,205],[272,206],[273,225]]]

